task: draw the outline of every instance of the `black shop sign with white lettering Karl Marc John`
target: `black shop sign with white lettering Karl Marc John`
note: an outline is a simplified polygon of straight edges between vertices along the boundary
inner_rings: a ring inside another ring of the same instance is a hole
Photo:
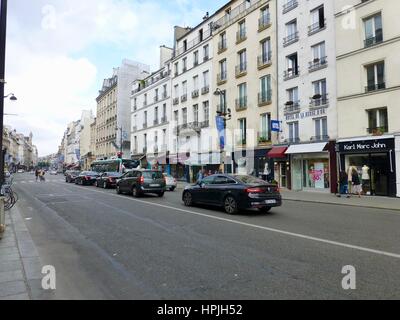
[[[394,149],[394,139],[373,139],[338,143],[339,152],[385,152]]]

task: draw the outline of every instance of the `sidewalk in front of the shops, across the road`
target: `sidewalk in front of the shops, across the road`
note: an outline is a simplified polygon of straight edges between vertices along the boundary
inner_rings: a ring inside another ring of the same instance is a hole
[[[178,182],[177,190],[183,190],[188,185],[184,182]],[[325,203],[334,205],[345,205],[354,207],[374,208],[374,209],[388,209],[398,210],[400,213],[400,198],[388,198],[388,197],[371,197],[362,196],[358,198],[353,196],[350,199],[346,197],[338,198],[336,195],[331,193],[322,192],[305,192],[305,191],[281,191],[283,200],[299,201],[299,202],[313,202],[313,203]]]

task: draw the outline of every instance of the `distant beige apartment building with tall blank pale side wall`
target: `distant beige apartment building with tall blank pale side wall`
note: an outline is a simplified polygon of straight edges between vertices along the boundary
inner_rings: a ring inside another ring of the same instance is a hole
[[[125,156],[130,154],[131,86],[143,71],[149,70],[147,65],[125,59],[112,77],[103,81],[96,99],[96,158],[111,158],[121,149]]]

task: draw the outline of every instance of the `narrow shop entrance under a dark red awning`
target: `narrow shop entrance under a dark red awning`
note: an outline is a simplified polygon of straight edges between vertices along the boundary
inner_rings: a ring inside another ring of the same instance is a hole
[[[285,154],[288,146],[276,146],[268,152],[268,158],[273,163],[274,180],[280,188],[290,189],[290,160]]]

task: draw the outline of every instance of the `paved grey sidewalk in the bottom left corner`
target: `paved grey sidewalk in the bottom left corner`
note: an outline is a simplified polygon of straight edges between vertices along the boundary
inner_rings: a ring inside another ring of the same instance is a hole
[[[6,211],[6,231],[0,239],[0,300],[31,300],[41,282],[41,263],[17,208]]]

